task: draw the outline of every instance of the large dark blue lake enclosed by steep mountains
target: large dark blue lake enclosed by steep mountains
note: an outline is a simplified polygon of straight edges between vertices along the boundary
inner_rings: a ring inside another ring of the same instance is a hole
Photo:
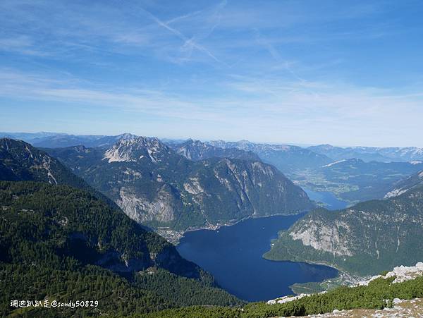
[[[304,215],[304,214],[302,214]],[[336,269],[300,262],[274,262],[262,255],[271,239],[302,215],[247,219],[218,231],[185,233],[176,247],[180,255],[214,275],[219,285],[243,300],[270,300],[292,295],[293,283],[324,281]]]

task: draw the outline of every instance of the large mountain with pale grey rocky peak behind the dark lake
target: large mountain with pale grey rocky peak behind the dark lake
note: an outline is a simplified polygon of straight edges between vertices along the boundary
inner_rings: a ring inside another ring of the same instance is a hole
[[[109,149],[49,149],[132,219],[185,231],[249,216],[313,207],[305,192],[261,161],[192,161],[154,137],[124,137]]]

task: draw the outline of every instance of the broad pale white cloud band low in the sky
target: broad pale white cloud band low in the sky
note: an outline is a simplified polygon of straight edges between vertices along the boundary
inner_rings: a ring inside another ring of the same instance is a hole
[[[324,82],[268,79],[258,85],[250,78],[236,78],[226,82],[231,88],[228,94],[196,99],[149,87],[92,87],[77,79],[63,81],[11,71],[1,72],[0,80],[4,84],[0,87],[3,97],[56,102],[64,108],[71,104],[108,107],[163,120],[205,122],[211,127],[225,127],[223,131],[234,136],[238,130],[240,139],[250,136],[252,140],[272,142],[281,142],[281,135],[287,134],[296,134],[296,140],[288,140],[291,142],[324,142],[324,138],[326,142],[334,138],[336,141],[332,135],[336,130],[342,131],[344,137],[349,133],[350,140],[367,135],[369,142],[376,142],[379,137],[386,138],[375,136],[377,131],[396,136],[403,128],[418,127],[423,116],[421,94],[393,94],[372,87]]]

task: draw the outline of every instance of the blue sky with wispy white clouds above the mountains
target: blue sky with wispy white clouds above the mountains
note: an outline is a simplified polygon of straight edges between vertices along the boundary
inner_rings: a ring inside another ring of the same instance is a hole
[[[423,147],[423,1],[0,1],[0,131]]]

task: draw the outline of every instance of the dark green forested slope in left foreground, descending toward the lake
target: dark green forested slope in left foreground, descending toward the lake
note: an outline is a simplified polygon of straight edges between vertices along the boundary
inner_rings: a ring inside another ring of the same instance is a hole
[[[99,301],[98,307],[64,307],[44,312],[46,317],[240,303],[164,238],[143,230],[90,192],[0,181],[0,206],[3,313],[11,313],[14,299]],[[174,282],[171,295],[168,281]],[[22,313],[21,308],[16,311]],[[32,317],[43,312],[34,307],[25,311]]]

